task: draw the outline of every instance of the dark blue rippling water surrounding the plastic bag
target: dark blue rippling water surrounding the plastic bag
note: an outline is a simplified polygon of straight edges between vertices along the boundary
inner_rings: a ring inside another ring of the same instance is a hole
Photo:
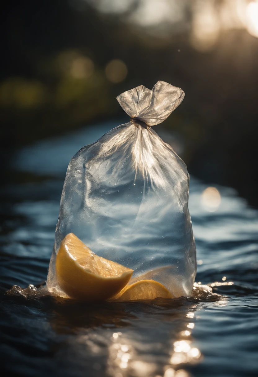
[[[210,189],[191,177],[196,281],[213,283],[224,299],[89,305],[4,294],[46,279],[69,159],[112,127],[42,141],[14,156],[24,179],[8,185],[2,202],[2,366],[33,377],[257,375],[258,211],[230,188]]]

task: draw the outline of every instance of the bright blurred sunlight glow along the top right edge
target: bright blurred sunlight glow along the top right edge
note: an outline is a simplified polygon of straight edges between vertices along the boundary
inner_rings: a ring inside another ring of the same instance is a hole
[[[225,30],[246,29],[258,38],[258,0],[224,0],[219,6],[214,0],[139,0],[137,7],[132,7],[133,0],[85,1],[100,12],[123,15],[129,25],[155,36],[167,35],[164,30],[173,34],[189,30],[190,44],[201,52],[213,49]]]

